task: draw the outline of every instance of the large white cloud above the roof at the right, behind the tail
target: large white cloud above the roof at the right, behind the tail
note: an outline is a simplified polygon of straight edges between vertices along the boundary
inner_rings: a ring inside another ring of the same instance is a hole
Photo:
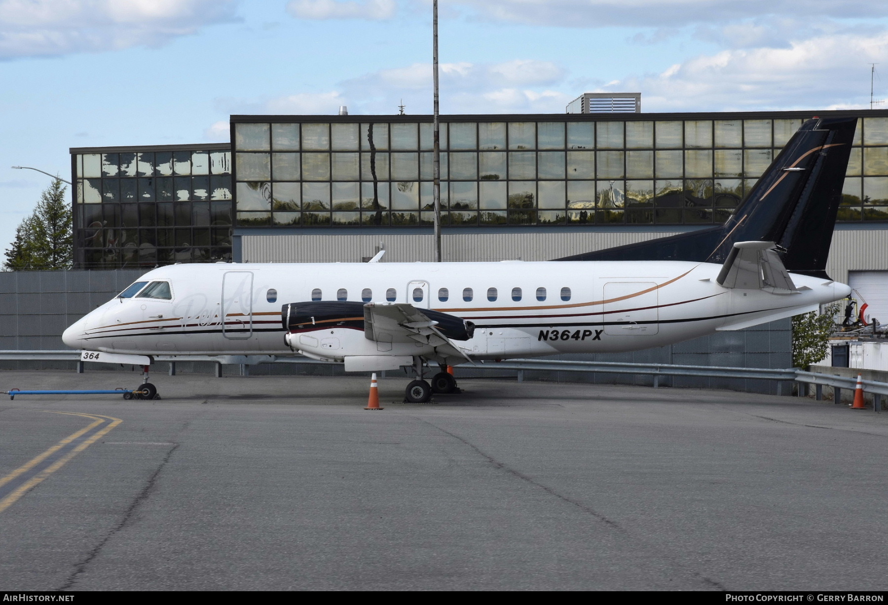
[[[860,107],[868,106],[868,63],[886,54],[888,32],[819,35],[702,55],[606,88],[640,90],[646,111]]]

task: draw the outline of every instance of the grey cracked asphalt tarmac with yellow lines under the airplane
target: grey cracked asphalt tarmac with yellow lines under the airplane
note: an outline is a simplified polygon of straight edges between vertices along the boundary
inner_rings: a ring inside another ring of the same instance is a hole
[[[154,378],[160,401],[0,396],[0,590],[888,587],[888,413],[501,380],[404,405],[391,377],[368,412],[364,377]]]

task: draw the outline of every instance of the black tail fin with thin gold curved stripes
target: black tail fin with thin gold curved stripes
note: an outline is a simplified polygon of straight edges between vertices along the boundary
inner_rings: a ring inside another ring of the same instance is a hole
[[[725,224],[559,261],[724,263],[740,241],[773,241],[788,271],[829,279],[827,256],[857,118],[814,118],[796,132]]]

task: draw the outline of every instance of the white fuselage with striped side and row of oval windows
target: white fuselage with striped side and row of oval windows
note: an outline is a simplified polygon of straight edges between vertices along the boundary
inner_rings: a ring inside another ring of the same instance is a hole
[[[78,350],[139,355],[414,355],[416,342],[380,350],[361,330],[318,326],[285,342],[281,305],[307,301],[409,303],[471,321],[471,358],[639,350],[719,328],[789,317],[850,292],[792,275],[791,295],[729,289],[720,264],[673,261],[501,263],[177,264],[139,282],[169,284],[168,298],[116,297],[70,326]]]

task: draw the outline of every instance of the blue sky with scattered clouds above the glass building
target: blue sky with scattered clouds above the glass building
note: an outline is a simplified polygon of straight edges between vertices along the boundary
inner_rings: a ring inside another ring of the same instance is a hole
[[[442,114],[868,108],[870,63],[888,98],[885,0],[439,7]],[[229,114],[430,114],[431,40],[431,0],[0,0],[0,249],[49,184],[13,165],[70,179],[69,147],[223,142]]]

